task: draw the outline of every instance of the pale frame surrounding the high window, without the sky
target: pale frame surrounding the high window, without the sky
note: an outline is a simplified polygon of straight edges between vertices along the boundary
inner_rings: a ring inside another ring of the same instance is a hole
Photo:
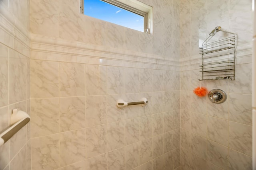
[[[101,0],[144,17],[144,33],[153,34],[153,7],[138,0]],[[80,0],[80,13],[84,14],[84,0]]]

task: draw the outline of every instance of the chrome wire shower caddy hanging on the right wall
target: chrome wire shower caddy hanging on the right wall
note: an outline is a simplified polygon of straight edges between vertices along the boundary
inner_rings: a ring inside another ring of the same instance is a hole
[[[202,65],[200,65],[200,72],[202,72],[202,80],[235,80],[235,56],[236,44],[235,34],[227,31],[227,38],[218,41],[209,42],[209,40],[218,32],[222,31],[218,26],[210,33],[210,36],[204,41],[200,47],[200,54],[202,55]]]

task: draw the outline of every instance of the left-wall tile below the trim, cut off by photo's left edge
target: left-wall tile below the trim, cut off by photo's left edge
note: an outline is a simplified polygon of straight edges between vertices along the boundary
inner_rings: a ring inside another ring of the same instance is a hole
[[[0,44],[0,107],[8,104],[8,48]]]

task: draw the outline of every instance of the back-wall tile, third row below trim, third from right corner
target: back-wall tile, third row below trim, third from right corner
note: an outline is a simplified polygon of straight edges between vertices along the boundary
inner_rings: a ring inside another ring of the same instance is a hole
[[[152,135],[160,135],[164,133],[164,115],[163,113],[152,115]]]

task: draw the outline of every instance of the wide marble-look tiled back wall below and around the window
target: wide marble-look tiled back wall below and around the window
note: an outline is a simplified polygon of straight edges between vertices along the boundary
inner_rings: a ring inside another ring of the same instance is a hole
[[[144,2],[154,35],[31,1],[32,170],[180,168],[180,3]]]

